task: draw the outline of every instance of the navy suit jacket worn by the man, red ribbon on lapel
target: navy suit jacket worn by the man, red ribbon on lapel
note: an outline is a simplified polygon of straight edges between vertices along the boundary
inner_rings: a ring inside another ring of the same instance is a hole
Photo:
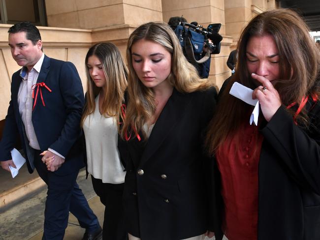
[[[5,118],[0,142],[0,160],[12,159],[10,150],[20,136],[23,149],[29,147],[18,106],[18,91],[22,78],[20,70],[12,75],[11,100]],[[32,124],[40,150],[51,148],[65,157],[65,162],[56,173],[67,174],[84,166],[80,134],[80,119],[84,105],[84,94],[79,74],[71,62],[44,56],[37,83],[44,82],[50,90],[42,87],[45,106],[40,92],[32,111]],[[36,92],[36,89],[34,90]],[[40,90],[39,90],[40,91]],[[35,95],[35,94],[34,94]],[[34,103],[35,99],[33,99]],[[32,103],[32,106],[33,106]],[[26,154],[27,155],[27,154]],[[28,159],[29,172],[33,172],[33,159]],[[80,158],[80,159],[79,159]]]

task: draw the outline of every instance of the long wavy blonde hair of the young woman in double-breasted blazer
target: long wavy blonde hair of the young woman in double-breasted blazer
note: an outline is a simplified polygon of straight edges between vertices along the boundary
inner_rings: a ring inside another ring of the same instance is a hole
[[[132,66],[131,47],[141,39],[159,43],[171,54],[171,72],[167,80],[179,92],[189,93],[214,86],[212,82],[198,76],[195,67],[184,57],[178,38],[167,24],[151,22],[141,25],[131,33],[128,39],[129,100],[126,121],[121,132],[123,137],[128,131],[142,130],[143,124],[152,118],[156,109],[153,90],[141,83]],[[144,131],[142,132],[144,134]]]

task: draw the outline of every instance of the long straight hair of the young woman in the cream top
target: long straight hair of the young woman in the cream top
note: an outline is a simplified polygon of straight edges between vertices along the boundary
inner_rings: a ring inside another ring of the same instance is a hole
[[[116,120],[120,122],[120,117],[124,119],[121,107],[124,102],[124,93],[127,88],[128,70],[119,49],[114,44],[97,43],[89,49],[85,60],[87,74],[87,102],[82,115],[81,126],[86,117],[95,112],[95,98],[101,91],[101,88],[96,87],[96,84],[89,74],[87,64],[88,59],[91,56],[96,56],[100,60],[106,79],[106,83],[102,87],[104,97],[101,114],[105,117],[115,117]]]

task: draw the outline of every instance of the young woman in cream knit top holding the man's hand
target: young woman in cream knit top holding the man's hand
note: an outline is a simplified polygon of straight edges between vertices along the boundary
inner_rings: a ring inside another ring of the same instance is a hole
[[[86,139],[87,170],[105,206],[103,240],[126,240],[122,193],[125,180],[118,145],[127,67],[112,43],[98,43],[86,56],[87,94],[82,127]]]

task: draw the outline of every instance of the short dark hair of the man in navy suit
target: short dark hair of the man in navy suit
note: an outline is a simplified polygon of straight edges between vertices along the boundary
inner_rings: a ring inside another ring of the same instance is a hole
[[[41,40],[41,35],[39,30],[30,22],[20,22],[11,26],[8,30],[8,33],[17,33],[24,31],[26,32],[26,38],[32,41],[32,44],[35,45],[38,40]]]

